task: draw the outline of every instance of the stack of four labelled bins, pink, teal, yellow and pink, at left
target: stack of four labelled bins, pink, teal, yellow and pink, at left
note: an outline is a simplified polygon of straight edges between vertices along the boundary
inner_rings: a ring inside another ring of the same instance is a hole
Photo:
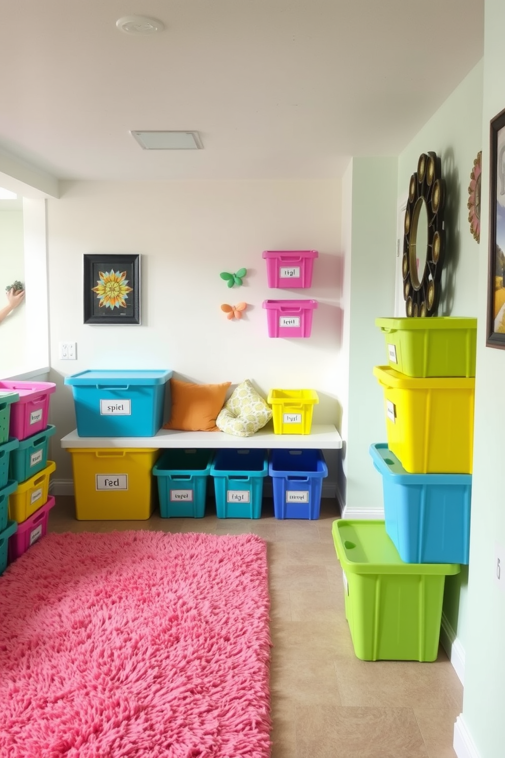
[[[17,393],[11,405],[8,455],[8,517],[17,525],[8,540],[8,562],[26,552],[47,531],[55,505],[49,496],[49,478],[56,465],[48,461],[48,440],[55,427],[48,424],[52,382],[2,381],[2,391]]]

